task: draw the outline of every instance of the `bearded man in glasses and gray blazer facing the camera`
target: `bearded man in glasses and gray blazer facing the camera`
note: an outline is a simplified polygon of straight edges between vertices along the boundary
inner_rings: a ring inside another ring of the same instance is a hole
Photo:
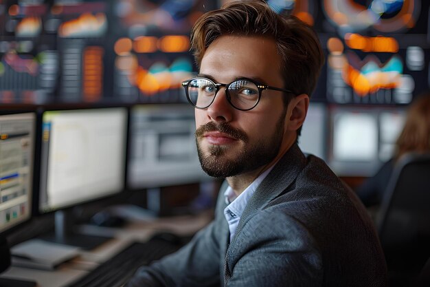
[[[214,222],[127,286],[386,286],[363,205],[297,134],[324,56],[317,36],[262,1],[238,1],[194,25],[201,166],[226,178]]]

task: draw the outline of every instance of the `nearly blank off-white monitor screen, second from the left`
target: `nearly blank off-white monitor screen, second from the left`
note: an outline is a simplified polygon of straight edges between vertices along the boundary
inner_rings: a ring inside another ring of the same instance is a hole
[[[127,112],[125,107],[43,112],[39,211],[124,189]]]

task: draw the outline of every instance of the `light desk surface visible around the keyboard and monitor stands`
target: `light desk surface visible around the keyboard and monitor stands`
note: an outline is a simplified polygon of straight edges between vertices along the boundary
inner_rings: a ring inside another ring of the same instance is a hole
[[[15,279],[31,279],[38,282],[38,287],[61,287],[70,284],[79,277],[106,261],[122,250],[132,241],[145,242],[154,233],[169,231],[178,235],[192,235],[212,220],[212,211],[200,215],[162,217],[150,222],[131,222],[124,228],[106,228],[98,226],[82,226],[84,233],[94,235],[111,235],[112,240],[91,251],[80,251],[80,256],[59,266],[56,270],[37,270],[12,266],[0,277]]]

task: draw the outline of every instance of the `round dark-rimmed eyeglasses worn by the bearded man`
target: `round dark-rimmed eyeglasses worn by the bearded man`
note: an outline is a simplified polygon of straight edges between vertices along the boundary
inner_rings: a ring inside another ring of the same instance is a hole
[[[209,78],[192,78],[188,81],[183,81],[182,86],[185,88],[188,102],[197,109],[209,107],[214,102],[220,87],[225,87],[225,96],[230,105],[240,111],[249,111],[256,107],[263,89],[273,89],[294,94],[288,89],[263,85],[247,78],[240,78],[229,84],[214,83]]]

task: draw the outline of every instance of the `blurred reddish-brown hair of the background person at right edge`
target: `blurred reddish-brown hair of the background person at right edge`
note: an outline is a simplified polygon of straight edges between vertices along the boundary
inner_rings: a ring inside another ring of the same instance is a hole
[[[411,103],[396,145],[396,160],[408,152],[430,152],[430,94],[419,96]]]

